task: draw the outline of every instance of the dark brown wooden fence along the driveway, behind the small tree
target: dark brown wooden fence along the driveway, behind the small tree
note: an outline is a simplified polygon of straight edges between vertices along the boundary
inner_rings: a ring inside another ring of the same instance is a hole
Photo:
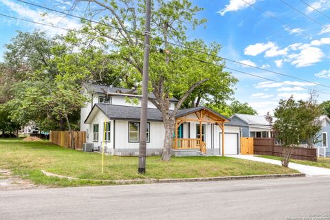
[[[254,137],[253,142],[254,154],[282,157],[283,147],[281,145],[275,144],[275,138]],[[294,148],[291,158],[316,161],[317,149],[303,147]]]

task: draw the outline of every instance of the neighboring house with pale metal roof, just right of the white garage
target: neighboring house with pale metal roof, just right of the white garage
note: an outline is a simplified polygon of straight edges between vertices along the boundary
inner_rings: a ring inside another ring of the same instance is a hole
[[[272,137],[272,128],[264,115],[235,113],[230,124],[241,126],[241,137]]]

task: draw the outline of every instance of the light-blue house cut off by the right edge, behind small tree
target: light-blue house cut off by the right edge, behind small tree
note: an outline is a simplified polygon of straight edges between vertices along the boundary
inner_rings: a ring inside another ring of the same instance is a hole
[[[320,155],[324,155],[326,152],[326,155],[330,155],[330,119],[327,115],[321,115],[320,118],[320,123],[321,123],[321,129],[318,132],[318,143],[315,145],[318,147],[318,150],[320,152]]]

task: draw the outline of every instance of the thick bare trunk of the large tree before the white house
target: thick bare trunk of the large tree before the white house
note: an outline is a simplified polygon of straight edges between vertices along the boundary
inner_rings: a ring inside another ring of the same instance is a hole
[[[168,161],[170,160],[170,150],[173,144],[175,118],[166,118],[166,119],[164,118],[163,122],[165,126],[165,139],[164,139],[162,160]]]

